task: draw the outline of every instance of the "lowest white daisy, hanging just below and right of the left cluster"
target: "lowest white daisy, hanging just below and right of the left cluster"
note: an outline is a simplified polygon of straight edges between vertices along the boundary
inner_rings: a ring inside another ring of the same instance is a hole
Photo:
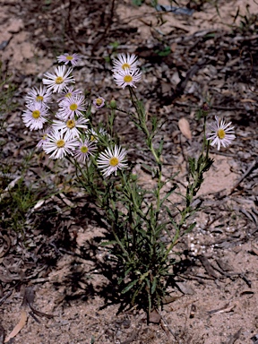
[[[97,159],[98,168],[102,169],[103,176],[110,176],[111,173],[116,172],[117,169],[126,168],[125,164],[125,148],[121,148],[115,145],[114,149],[107,148],[103,153],[99,154]]]

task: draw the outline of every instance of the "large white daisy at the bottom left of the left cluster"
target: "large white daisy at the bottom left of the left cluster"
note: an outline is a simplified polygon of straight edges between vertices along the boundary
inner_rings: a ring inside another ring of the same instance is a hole
[[[70,136],[70,133],[53,131],[47,134],[47,140],[43,144],[43,150],[51,155],[51,159],[62,159],[67,154],[73,155],[73,150],[78,146],[78,140]]]

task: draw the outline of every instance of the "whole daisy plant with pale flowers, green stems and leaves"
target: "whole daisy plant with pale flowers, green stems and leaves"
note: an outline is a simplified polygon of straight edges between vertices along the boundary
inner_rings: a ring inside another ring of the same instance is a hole
[[[73,66],[79,59],[76,54],[57,57],[59,63],[70,62]],[[150,314],[162,305],[168,293],[168,278],[174,276],[173,265],[178,260],[176,245],[195,226],[192,217],[200,210],[200,203],[193,201],[205,172],[211,168],[210,142],[218,144],[219,149],[220,145],[226,147],[235,135],[230,124],[219,121],[218,117],[210,126],[210,133],[206,133],[209,108],[202,107],[198,115],[203,121],[202,149],[198,156],[189,159],[187,187],[182,195],[184,204],[174,204],[169,197],[179,193],[175,180],[178,173],[167,179],[163,176],[164,139],[157,141],[156,138],[163,124],[157,116],[147,114],[134,90],[135,83],[142,78],[137,58],[119,55],[113,63],[116,84],[129,90],[129,109],[121,109],[114,99],[107,102],[101,97],[94,99],[92,105],[90,99],[86,103],[82,91],[69,86],[75,82],[73,69],[66,70],[65,65],[61,65],[55,73],[45,74],[43,83],[47,88],[30,90],[22,119],[30,130],[48,125],[38,148],[52,159],[71,162],[77,182],[90,195],[90,202],[95,204],[112,236],[102,245],[110,250],[121,299]],[[49,98],[55,98],[55,94],[51,95],[51,90],[62,96],[57,99],[58,111],[52,116]],[[106,123],[92,122],[92,107],[96,111],[106,107]],[[149,162],[142,162],[142,167],[149,171],[154,182],[152,187],[141,185],[135,164],[129,161],[129,154],[120,144],[114,126],[119,112],[126,115],[128,130],[131,123],[133,132],[141,133],[138,154],[149,156]],[[172,186],[165,192],[168,183]]]

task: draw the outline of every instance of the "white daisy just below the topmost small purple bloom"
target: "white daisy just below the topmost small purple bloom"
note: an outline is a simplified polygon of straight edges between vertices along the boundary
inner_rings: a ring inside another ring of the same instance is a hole
[[[53,92],[60,92],[61,90],[67,89],[67,84],[72,82],[74,83],[75,80],[73,76],[69,76],[70,73],[73,72],[72,68],[68,68],[66,71],[65,65],[58,65],[55,68],[55,73],[45,73],[44,75],[47,76],[47,79],[43,79],[42,82],[47,85],[48,90],[53,90]]]

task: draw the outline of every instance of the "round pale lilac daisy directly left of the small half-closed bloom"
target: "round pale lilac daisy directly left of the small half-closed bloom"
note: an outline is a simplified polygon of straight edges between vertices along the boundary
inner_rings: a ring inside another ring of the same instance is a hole
[[[81,94],[77,94],[61,101],[56,116],[66,121],[75,115],[82,116],[82,111],[86,111],[85,99]]]

